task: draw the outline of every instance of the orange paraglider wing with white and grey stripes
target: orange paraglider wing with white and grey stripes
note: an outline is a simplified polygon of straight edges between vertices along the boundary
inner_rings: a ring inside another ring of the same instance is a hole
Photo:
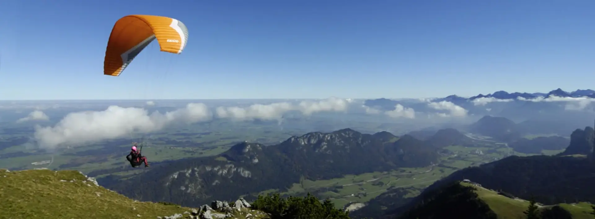
[[[109,35],[104,74],[119,76],[155,38],[162,52],[180,54],[188,41],[188,29],[181,21],[169,17],[127,15],[120,18]]]

